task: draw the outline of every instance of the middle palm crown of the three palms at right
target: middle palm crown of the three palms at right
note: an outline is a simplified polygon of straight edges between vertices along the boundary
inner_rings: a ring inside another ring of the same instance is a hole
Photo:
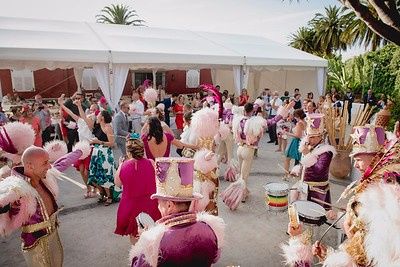
[[[336,50],[346,50],[347,44],[342,40],[346,29],[343,19],[343,8],[337,6],[325,7],[325,14],[317,13],[310,21],[310,26],[315,31],[314,42],[325,55],[330,56]]]

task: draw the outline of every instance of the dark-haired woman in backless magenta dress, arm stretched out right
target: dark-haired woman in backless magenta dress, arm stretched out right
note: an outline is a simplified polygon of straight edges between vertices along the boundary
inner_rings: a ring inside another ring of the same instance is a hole
[[[178,139],[175,139],[172,134],[164,132],[161,122],[157,117],[149,117],[143,126],[142,140],[146,157],[152,160],[159,157],[169,157],[171,144],[181,149],[184,147],[197,149],[196,145],[182,143]]]

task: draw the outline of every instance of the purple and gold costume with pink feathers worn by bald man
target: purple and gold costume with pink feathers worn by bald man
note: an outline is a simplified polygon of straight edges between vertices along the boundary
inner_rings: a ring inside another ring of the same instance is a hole
[[[75,150],[59,158],[47,171],[46,179],[40,181],[54,204],[56,212],[53,214],[47,212],[43,199],[23,174],[23,167],[15,167],[11,176],[0,181],[0,235],[6,236],[21,229],[22,252],[28,266],[62,266],[63,251],[57,230],[56,178],[61,178],[61,172],[82,154],[81,150]]]

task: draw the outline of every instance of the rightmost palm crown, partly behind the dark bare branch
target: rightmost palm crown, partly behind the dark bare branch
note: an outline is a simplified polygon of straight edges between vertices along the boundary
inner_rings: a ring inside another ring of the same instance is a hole
[[[354,12],[348,12],[343,16],[343,19],[347,25],[343,32],[342,40],[347,44],[364,45],[365,49],[371,48],[371,50],[375,51],[388,43],[385,38],[376,34],[364,21],[358,18]]]

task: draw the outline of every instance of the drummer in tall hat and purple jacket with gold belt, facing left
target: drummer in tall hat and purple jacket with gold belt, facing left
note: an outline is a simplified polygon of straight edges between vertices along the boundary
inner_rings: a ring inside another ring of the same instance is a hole
[[[303,166],[302,179],[297,183],[298,191],[292,199],[306,199],[316,202],[315,199],[331,203],[329,189],[329,166],[336,154],[333,146],[324,141],[324,115],[319,113],[307,114],[306,135],[301,140],[299,151],[303,154],[300,161]],[[316,202],[320,204],[320,202]],[[330,206],[324,205],[325,209]]]

